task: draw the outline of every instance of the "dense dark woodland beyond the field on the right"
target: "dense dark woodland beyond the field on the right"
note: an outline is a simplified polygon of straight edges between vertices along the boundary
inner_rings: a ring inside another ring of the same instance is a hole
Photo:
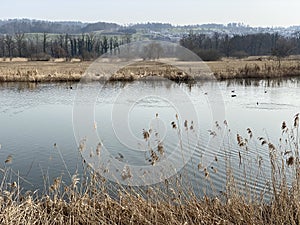
[[[300,54],[300,32],[285,37],[278,33],[246,35],[194,34],[184,35],[180,44],[195,52],[202,60],[218,60],[220,57],[247,57],[273,55],[285,57]]]

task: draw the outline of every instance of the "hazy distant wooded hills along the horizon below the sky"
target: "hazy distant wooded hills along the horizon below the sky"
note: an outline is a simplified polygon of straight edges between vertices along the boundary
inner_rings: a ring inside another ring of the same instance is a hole
[[[283,36],[292,36],[300,32],[300,26],[291,27],[251,27],[243,23],[224,24],[196,24],[196,25],[172,25],[169,23],[137,23],[127,26],[117,23],[83,23],[76,21],[41,21],[30,19],[0,20],[0,34],[15,33],[68,33],[81,34],[95,31],[128,32],[160,34],[162,36],[181,36],[190,31],[195,33],[213,34],[214,32],[224,34],[256,34],[256,33],[279,33]]]

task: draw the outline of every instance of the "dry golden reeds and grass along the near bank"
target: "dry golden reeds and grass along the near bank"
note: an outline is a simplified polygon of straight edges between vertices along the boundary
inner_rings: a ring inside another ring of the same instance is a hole
[[[170,183],[165,183],[168,188],[146,187],[138,190],[120,185],[112,194],[108,191],[105,179],[88,167],[84,170],[88,175],[79,177],[75,174],[69,185],[61,177],[54,179],[49,192],[44,196],[36,193],[21,194],[18,183],[5,182],[7,170],[3,169],[0,223],[299,224],[299,115],[295,115],[290,128],[283,122],[281,129],[282,143],[278,146],[270,143],[268,139],[258,138],[269,152],[269,159],[264,159],[271,164],[272,194],[269,200],[264,200],[264,196],[248,197],[247,193],[240,192],[228,158],[225,161],[226,192],[202,197],[197,197],[189,189],[183,191],[183,184],[180,182],[174,184],[174,189]],[[254,138],[250,129],[247,129],[247,133],[247,138]],[[240,151],[247,151],[247,139],[240,135],[236,139]],[[241,162],[247,160],[240,153],[239,155]],[[292,175],[287,172],[288,169]],[[291,176],[288,178],[289,175]],[[209,175],[207,177],[209,179]],[[247,187],[248,184],[244,185]]]

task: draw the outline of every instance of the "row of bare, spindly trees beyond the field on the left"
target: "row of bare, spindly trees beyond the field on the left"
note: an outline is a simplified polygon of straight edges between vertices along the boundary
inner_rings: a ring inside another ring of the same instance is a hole
[[[131,35],[106,36],[95,33],[81,35],[27,35],[25,33],[0,36],[0,57],[25,57],[31,60],[50,58],[80,58],[90,60],[105,53],[116,54],[119,46],[131,42]]]

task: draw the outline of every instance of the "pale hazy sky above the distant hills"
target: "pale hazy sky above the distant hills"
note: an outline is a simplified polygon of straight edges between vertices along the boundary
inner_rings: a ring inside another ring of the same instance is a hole
[[[300,0],[0,0],[0,19],[300,25]]]

